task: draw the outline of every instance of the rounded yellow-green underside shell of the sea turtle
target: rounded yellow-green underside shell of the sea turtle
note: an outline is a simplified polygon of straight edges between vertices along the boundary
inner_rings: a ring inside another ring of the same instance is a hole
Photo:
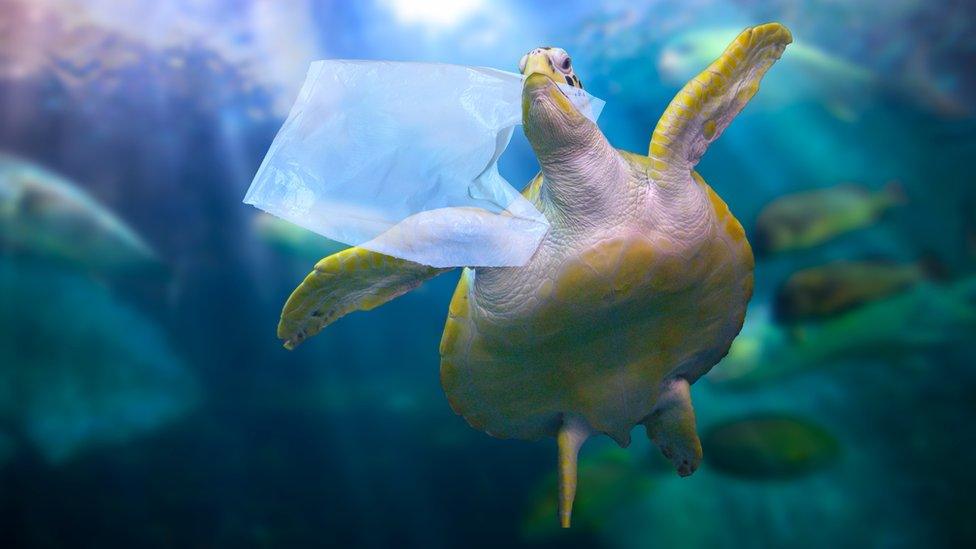
[[[520,268],[530,282],[503,307],[512,314],[478,301],[494,271],[466,269],[441,341],[455,412],[521,439],[555,436],[577,414],[626,444],[663,380],[694,382],[718,362],[742,326],[753,257],[725,203],[700,178],[689,185],[709,210],[693,242],[617,226],[561,254],[542,250],[536,263],[545,264]]]

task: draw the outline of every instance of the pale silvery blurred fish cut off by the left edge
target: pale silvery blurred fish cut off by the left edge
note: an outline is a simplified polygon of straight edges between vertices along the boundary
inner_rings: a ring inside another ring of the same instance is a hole
[[[155,251],[76,184],[0,155],[0,249],[100,274],[160,266]]]

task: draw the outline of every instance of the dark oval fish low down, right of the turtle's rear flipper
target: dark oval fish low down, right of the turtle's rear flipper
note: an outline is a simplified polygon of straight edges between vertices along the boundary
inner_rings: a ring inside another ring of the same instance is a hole
[[[835,463],[840,442],[826,429],[802,417],[759,413],[705,430],[702,448],[707,466],[750,480],[791,479]]]

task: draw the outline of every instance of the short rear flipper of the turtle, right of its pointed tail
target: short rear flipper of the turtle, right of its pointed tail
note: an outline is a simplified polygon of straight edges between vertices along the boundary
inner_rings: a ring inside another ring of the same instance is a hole
[[[647,436],[671,460],[679,475],[686,477],[695,472],[702,451],[688,380],[676,378],[666,384],[654,412],[643,423]]]

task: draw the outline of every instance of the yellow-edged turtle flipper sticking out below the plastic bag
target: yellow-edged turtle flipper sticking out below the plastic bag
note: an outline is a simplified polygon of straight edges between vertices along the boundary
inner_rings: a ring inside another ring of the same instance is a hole
[[[449,271],[349,248],[330,255],[295,288],[281,311],[278,338],[288,349],[353,311],[368,311]]]

